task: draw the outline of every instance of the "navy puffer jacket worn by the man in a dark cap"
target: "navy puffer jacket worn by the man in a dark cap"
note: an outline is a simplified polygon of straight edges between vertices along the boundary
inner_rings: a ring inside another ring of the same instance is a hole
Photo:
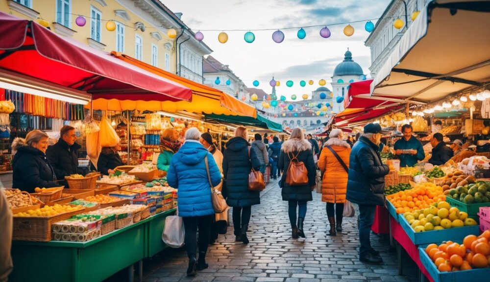
[[[361,136],[349,157],[347,200],[366,205],[384,205],[385,175],[388,165],[381,162],[378,146]]]

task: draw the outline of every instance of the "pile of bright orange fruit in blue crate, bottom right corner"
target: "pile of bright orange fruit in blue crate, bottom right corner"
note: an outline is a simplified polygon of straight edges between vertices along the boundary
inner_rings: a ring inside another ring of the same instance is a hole
[[[429,244],[425,253],[440,272],[490,267],[490,230],[481,235],[467,235],[463,244],[452,241]]]

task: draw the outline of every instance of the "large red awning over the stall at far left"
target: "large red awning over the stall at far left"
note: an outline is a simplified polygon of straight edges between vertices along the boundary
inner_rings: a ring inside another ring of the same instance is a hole
[[[192,99],[191,89],[170,79],[2,12],[0,70],[87,92],[94,99]]]

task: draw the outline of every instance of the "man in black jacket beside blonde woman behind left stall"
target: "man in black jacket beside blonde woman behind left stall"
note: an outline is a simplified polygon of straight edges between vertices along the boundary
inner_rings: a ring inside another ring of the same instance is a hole
[[[60,139],[46,150],[46,156],[54,169],[56,178],[65,179],[65,176],[78,173],[78,156],[76,150],[81,146],[76,142],[75,128],[64,125],[60,130]]]

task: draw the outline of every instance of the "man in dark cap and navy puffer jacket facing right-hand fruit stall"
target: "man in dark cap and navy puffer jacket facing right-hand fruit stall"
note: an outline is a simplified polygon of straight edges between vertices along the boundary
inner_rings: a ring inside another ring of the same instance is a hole
[[[381,126],[368,123],[364,133],[350,152],[347,200],[359,206],[359,260],[368,264],[382,264],[379,252],[371,248],[370,232],[376,205],[385,204],[385,175],[388,165],[381,162],[378,153],[381,142]]]

